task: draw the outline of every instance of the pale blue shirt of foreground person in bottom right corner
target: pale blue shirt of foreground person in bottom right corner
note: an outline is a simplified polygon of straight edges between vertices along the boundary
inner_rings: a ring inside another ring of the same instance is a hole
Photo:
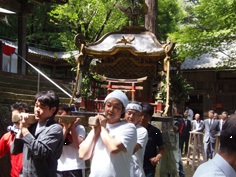
[[[230,164],[218,153],[212,160],[201,164],[193,177],[236,177],[236,172]]]

